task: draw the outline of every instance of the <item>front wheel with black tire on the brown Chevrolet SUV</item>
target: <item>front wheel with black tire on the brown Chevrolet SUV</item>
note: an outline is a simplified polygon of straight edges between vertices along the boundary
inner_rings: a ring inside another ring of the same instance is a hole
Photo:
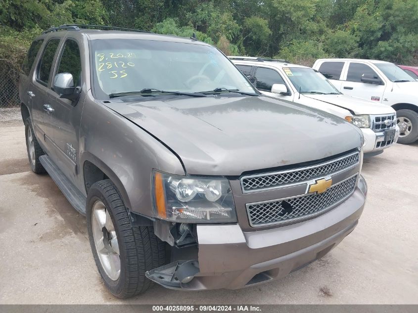
[[[132,227],[121,195],[110,179],[94,183],[87,196],[87,229],[94,261],[118,298],[144,292],[147,270],[164,265],[164,243],[152,226]]]

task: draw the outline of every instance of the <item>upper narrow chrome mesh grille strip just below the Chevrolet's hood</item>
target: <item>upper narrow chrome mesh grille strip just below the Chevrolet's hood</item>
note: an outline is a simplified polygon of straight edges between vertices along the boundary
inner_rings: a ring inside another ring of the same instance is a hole
[[[310,179],[335,174],[336,172],[351,168],[358,163],[359,152],[354,152],[310,167],[276,173],[244,176],[241,178],[241,188],[243,193],[249,193],[286,187],[291,184],[302,183]]]

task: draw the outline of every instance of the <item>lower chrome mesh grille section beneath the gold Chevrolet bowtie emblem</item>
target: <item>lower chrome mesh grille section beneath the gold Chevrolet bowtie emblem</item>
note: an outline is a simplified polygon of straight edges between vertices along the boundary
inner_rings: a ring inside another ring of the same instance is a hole
[[[356,187],[357,174],[319,194],[309,194],[272,202],[247,204],[252,227],[303,220],[325,212],[350,196]]]

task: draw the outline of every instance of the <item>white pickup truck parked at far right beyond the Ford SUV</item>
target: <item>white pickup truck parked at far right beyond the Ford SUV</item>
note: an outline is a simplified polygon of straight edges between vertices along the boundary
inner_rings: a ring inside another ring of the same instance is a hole
[[[418,140],[418,82],[401,68],[385,61],[362,59],[319,59],[313,68],[344,94],[394,108],[399,143]]]

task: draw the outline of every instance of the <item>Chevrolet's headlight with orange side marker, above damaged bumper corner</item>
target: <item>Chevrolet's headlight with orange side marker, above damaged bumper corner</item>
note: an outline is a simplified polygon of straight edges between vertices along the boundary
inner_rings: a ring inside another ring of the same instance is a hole
[[[227,179],[191,179],[153,171],[155,215],[179,223],[235,223]]]

